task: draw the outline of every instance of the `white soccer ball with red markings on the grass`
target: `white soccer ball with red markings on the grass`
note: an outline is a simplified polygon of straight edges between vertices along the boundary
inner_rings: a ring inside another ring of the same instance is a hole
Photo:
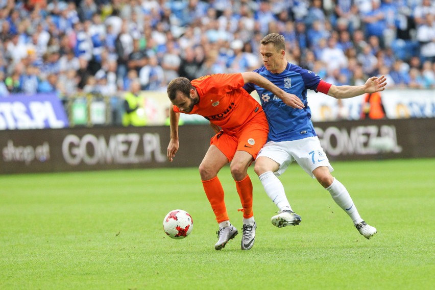
[[[194,228],[192,217],[182,209],[171,210],[163,220],[164,232],[175,239],[185,238]]]

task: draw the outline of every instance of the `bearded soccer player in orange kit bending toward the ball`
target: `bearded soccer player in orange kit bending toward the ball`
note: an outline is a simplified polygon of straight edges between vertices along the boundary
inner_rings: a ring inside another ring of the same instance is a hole
[[[254,83],[273,92],[288,106],[303,108],[299,98],[252,71],[209,75],[191,82],[186,78],[176,78],[167,86],[167,95],[172,103],[171,141],[167,147],[169,161],[173,160],[179,148],[180,113],[204,116],[216,132],[199,166],[205,194],[219,223],[219,231],[216,232],[218,242],[214,245],[216,250],[224,248],[238,233],[229,221],[224,190],[218,178],[221,168],[229,162],[243,206],[241,249],[251,249],[255,240],[257,226],[252,212],[252,182],[248,167],[266,142],[269,127],[261,106],[242,88],[246,83]]]

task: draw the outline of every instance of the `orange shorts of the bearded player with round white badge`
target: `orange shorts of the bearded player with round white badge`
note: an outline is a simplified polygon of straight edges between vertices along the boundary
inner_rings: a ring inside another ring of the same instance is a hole
[[[237,132],[227,133],[225,129],[222,130],[211,138],[210,144],[224,153],[229,162],[236,151],[246,151],[255,159],[268,140],[268,134],[268,121],[264,115],[259,115],[241,126]]]

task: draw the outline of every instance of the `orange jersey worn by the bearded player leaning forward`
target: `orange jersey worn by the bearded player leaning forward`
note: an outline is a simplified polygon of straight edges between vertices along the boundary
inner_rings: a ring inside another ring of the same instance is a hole
[[[204,116],[223,129],[237,130],[256,114],[262,113],[260,104],[243,89],[241,74],[216,74],[191,81],[197,89],[200,102],[191,112]],[[174,106],[174,112],[180,112]],[[184,112],[183,112],[184,113]]]

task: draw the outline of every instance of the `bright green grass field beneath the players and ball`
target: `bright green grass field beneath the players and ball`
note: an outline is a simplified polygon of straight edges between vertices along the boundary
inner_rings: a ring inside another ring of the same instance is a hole
[[[0,289],[432,289],[435,159],[333,166],[378,229],[371,240],[296,165],[281,180],[302,223],[281,229],[250,168],[250,251],[241,234],[214,250],[218,227],[197,168],[0,176]],[[229,168],[219,177],[241,232]],[[182,240],[162,229],[176,208],[194,220]]]

